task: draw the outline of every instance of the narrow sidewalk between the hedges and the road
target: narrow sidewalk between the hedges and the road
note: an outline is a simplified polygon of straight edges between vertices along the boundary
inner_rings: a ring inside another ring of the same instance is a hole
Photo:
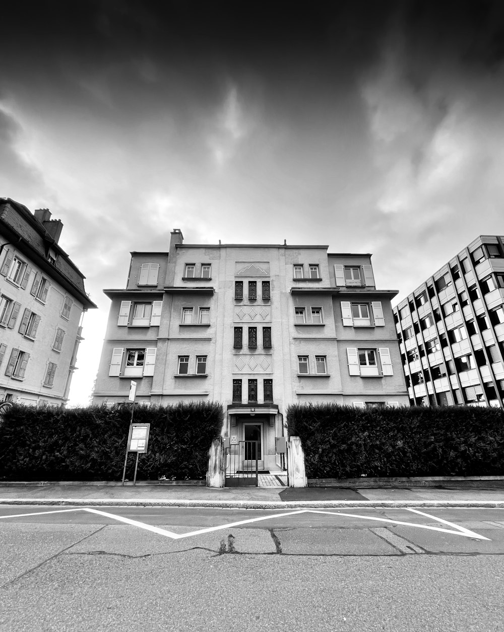
[[[0,505],[287,507],[503,507],[504,489],[226,487],[137,483],[0,483]]]

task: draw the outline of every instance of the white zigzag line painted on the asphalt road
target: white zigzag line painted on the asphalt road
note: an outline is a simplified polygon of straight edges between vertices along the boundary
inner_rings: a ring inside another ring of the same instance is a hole
[[[445,525],[452,526],[456,529],[456,531],[450,529],[443,529],[440,526],[429,526],[429,525],[418,525],[412,522],[403,522],[400,520],[390,520],[389,518],[376,518],[374,516],[362,516],[360,514],[347,514],[342,513],[341,511],[321,511],[317,509],[298,509],[297,511],[286,511],[280,514],[271,514],[268,516],[261,516],[261,518],[249,518],[248,520],[240,520],[238,522],[231,522],[226,525],[219,526],[209,526],[204,529],[200,529],[198,531],[192,531],[188,533],[173,533],[166,529],[162,529],[159,526],[147,525],[144,522],[140,522],[138,520],[130,520],[130,518],[123,518],[123,516],[118,516],[116,514],[107,513],[106,511],[101,511],[100,509],[92,509],[91,507],[77,507],[76,509],[55,509],[53,511],[38,511],[37,513],[25,513],[25,514],[12,514],[9,516],[0,516],[0,518],[22,518],[24,516],[40,516],[42,514],[51,514],[51,513],[65,513],[69,511],[87,511],[89,513],[95,513],[101,516],[106,516],[107,518],[112,518],[113,520],[118,520],[119,522],[124,522],[126,525],[138,526],[141,529],[145,529],[147,531],[151,531],[153,533],[157,533],[158,535],[164,535],[165,537],[172,538],[173,540],[180,540],[180,538],[188,538],[193,535],[201,535],[202,533],[210,533],[212,531],[219,531],[222,529],[229,529],[233,526],[240,525],[248,525],[250,523],[259,522],[262,520],[271,520],[271,518],[283,518],[284,516],[293,516],[295,514],[302,513],[316,513],[316,514],[329,514],[329,516],[347,516],[348,518],[361,518],[362,520],[374,520],[378,522],[388,522],[394,525],[404,525],[404,526],[414,526],[419,529],[428,529],[431,531],[439,531],[443,533],[452,533],[452,535],[463,535],[468,538],[476,538],[477,540],[488,540],[490,538],[484,537],[484,535],[478,535],[469,529],[466,529],[464,526],[455,525],[452,522],[448,522],[447,520],[443,520],[442,518],[436,518],[436,516],[431,516],[430,514],[426,514],[422,511],[418,511],[417,509],[408,509],[408,511],[414,511],[415,513],[421,514],[422,516],[426,516],[427,518],[432,518],[438,522],[442,522]]]

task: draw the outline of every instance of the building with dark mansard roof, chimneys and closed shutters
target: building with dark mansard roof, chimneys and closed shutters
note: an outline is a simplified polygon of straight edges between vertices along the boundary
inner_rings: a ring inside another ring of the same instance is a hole
[[[82,314],[96,306],[47,209],[0,198],[0,401],[68,399]]]

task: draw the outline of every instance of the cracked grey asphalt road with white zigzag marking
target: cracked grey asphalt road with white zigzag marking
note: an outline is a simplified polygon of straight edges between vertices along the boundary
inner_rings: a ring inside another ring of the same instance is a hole
[[[504,629],[504,509],[68,509],[0,507],[2,632]]]

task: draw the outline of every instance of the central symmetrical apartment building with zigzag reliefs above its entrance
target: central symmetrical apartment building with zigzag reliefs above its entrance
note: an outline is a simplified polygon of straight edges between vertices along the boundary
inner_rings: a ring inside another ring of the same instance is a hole
[[[112,301],[94,403],[220,401],[223,436],[280,463],[289,404],[408,405],[390,300],[371,255],[328,246],[192,245],[132,252]]]

